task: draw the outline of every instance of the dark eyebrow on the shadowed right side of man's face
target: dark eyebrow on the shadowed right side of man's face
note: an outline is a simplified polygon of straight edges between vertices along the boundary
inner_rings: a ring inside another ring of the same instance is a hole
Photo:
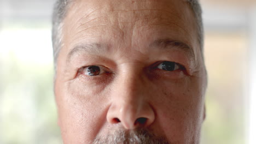
[[[164,49],[170,49],[170,48],[181,49],[185,53],[187,53],[188,56],[193,59],[193,61],[195,61],[195,53],[193,48],[182,41],[171,40],[171,39],[158,39],[158,40],[155,40],[152,44],[150,44],[149,47],[162,47]]]

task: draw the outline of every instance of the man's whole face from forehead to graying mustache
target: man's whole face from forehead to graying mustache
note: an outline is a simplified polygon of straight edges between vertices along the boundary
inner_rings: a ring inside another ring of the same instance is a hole
[[[187,2],[77,0],[63,22],[64,143],[199,143],[206,72]]]

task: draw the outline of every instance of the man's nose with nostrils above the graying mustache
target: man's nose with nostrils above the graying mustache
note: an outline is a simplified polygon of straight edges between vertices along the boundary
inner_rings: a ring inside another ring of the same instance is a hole
[[[125,75],[115,81],[112,103],[107,112],[110,124],[121,124],[125,129],[148,127],[155,113],[148,103],[149,89],[140,77]]]

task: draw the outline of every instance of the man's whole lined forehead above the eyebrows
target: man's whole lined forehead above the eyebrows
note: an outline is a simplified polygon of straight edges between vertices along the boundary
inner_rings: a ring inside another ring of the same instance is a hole
[[[134,46],[166,38],[199,47],[193,11],[181,0],[73,1],[63,34],[67,47],[88,41]]]

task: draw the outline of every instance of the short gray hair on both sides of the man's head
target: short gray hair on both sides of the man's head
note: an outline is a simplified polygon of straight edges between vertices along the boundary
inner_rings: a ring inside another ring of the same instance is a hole
[[[53,12],[53,54],[54,54],[54,68],[56,70],[57,57],[62,47],[62,27],[63,19],[67,13],[68,7],[72,0],[56,0]],[[74,1],[74,0],[73,0]],[[198,0],[183,0],[189,3],[191,9],[194,11],[197,22],[197,39],[200,44],[201,52],[203,53],[203,25],[202,25],[202,9]]]

